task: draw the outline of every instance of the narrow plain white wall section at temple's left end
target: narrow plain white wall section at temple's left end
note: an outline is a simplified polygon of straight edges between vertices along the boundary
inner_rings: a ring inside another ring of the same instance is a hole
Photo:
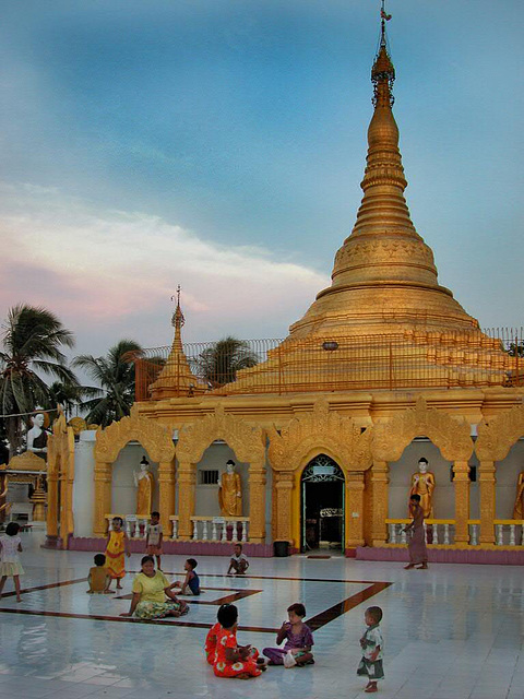
[[[80,433],[74,446],[73,522],[75,536],[93,536],[95,497],[94,429]]]

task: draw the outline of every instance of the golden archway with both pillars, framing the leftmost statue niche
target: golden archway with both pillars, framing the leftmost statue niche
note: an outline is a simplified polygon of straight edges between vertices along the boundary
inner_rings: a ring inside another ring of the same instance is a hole
[[[159,510],[162,525],[169,530],[169,516],[175,513],[175,446],[171,431],[156,420],[142,417],[133,405],[128,417],[96,431],[94,533],[104,536],[106,514],[111,509],[112,464],[129,441],[138,441],[158,463]]]

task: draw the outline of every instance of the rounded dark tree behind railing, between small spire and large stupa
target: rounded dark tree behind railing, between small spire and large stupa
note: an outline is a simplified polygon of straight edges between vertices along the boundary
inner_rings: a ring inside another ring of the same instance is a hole
[[[214,342],[195,359],[196,372],[213,388],[235,381],[237,371],[254,367],[258,363],[249,343],[231,335]]]

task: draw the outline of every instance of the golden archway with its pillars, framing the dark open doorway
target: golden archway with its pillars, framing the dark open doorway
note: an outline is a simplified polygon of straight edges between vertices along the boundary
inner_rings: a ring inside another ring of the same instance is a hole
[[[321,396],[311,412],[294,417],[281,430],[272,426],[267,431],[267,455],[275,472],[275,538],[298,544],[301,472],[311,459],[324,453],[341,466],[345,476],[345,546],[362,544],[365,471],[372,462],[371,429],[362,431],[352,417],[331,411],[329,401]]]

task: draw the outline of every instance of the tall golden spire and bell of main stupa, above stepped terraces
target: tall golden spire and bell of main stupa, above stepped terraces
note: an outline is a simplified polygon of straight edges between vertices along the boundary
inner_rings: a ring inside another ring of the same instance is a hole
[[[421,319],[456,329],[478,325],[439,285],[433,253],[416,232],[404,198],[407,181],[392,110],[395,68],[388,50],[389,20],[382,0],[380,40],[371,68],[374,108],[356,223],[335,256],[332,285],[291,325],[291,336],[383,333],[389,324],[405,330]]]

